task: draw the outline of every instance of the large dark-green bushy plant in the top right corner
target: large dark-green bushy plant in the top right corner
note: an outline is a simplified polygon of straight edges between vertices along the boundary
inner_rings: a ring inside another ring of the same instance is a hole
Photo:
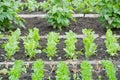
[[[120,0],[101,0],[99,2],[100,21],[106,28],[120,28]]]

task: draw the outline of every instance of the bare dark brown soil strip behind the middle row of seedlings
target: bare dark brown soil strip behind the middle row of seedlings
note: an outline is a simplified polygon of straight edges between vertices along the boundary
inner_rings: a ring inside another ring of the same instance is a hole
[[[102,27],[102,24],[99,22],[97,18],[76,18],[76,23],[71,21],[71,24],[68,28],[63,28],[62,31],[58,29],[53,29],[52,26],[47,23],[45,19],[42,18],[32,18],[25,19],[26,20],[26,28],[21,29],[22,35],[25,35],[28,32],[28,28],[38,28],[40,31],[40,35],[47,35],[51,31],[58,32],[60,34],[65,34],[65,32],[72,30],[76,34],[83,34],[82,29],[88,28],[95,31],[95,34],[105,35],[106,29]],[[113,32],[115,34],[120,34],[119,29],[114,29]]]

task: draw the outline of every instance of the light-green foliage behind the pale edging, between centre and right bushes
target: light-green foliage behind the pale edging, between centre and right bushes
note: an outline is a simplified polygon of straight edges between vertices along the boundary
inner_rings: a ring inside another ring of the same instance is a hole
[[[80,13],[98,13],[100,10],[98,2],[99,0],[73,0],[72,4]]]

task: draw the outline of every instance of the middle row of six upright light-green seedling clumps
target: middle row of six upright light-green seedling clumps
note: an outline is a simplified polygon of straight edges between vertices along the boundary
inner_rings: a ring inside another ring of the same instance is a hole
[[[83,34],[85,38],[83,38],[84,49],[85,49],[85,57],[89,59],[92,55],[95,54],[97,51],[97,45],[95,44],[95,37],[94,31],[91,29],[83,29]],[[4,50],[6,51],[6,57],[11,59],[12,56],[19,51],[19,37],[20,37],[20,30],[17,29],[15,32],[11,33],[11,36],[8,36],[8,41],[3,45]],[[34,28],[33,30],[29,30],[29,34],[25,36],[23,39],[24,41],[24,48],[26,56],[29,56],[30,59],[34,58],[36,53],[41,53],[42,51],[38,49],[40,35],[39,30]],[[66,58],[76,58],[78,52],[76,51],[75,43],[77,42],[76,34],[72,31],[66,32],[66,40],[65,40],[65,48],[64,51],[66,52]],[[32,44],[31,44],[32,43]],[[47,54],[47,57],[51,60],[52,57],[57,55],[57,44],[59,43],[59,34],[55,32],[50,32],[47,35],[47,45],[46,48],[43,50]],[[111,56],[117,55],[117,51],[120,50],[120,46],[117,42],[117,37],[112,33],[109,29],[106,33],[106,40],[105,45],[107,48],[107,52]]]

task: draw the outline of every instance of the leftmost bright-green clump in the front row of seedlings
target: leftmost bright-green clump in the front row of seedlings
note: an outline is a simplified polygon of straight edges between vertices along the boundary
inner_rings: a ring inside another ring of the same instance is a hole
[[[23,61],[16,60],[13,67],[8,72],[9,80],[19,80],[22,72],[26,72]]]

